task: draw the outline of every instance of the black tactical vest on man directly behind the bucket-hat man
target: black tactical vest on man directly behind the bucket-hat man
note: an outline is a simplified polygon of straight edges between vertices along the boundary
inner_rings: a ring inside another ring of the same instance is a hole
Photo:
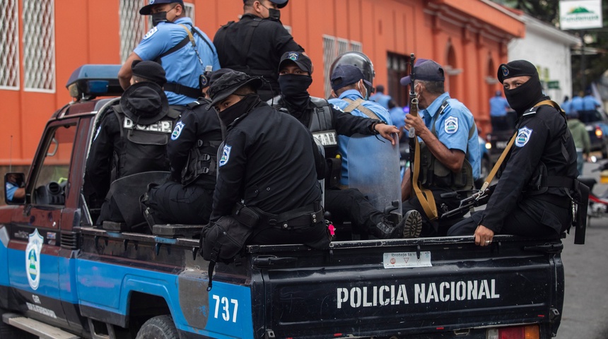
[[[209,104],[209,101],[191,102],[187,106],[194,107]],[[182,185],[187,186],[199,181],[206,189],[214,189],[218,163],[218,148],[222,143],[222,132],[212,133],[212,140],[197,140],[194,148],[190,149],[188,160],[182,169]],[[203,176],[203,177],[201,177]]]

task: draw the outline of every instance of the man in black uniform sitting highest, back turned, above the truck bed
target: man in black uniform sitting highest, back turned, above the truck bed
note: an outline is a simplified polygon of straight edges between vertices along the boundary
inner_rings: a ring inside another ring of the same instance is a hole
[[[218,58],[223,67],[263,76],[269,85],[257,93],[262,100],[279,94],[276,67],[288,51],[304,52],[283,27],[279,8],[288,0],[243,0],[243,14],[238,22],[223,25],[214,37]]]

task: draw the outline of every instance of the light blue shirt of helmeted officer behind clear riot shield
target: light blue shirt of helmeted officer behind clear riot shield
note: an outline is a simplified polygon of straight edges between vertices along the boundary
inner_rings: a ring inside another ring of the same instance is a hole
[[[336,105],[337,107],[339,107],[340,109],[345,109],[346,107],[348,107],[350,104],[342,99],[347,98],[350,100],[357,100],[357,99],[363,99],[363,95],[361,95],[361,93],[359,93],[358,90],[346,90],[344,91],[344,93],[342,93],[340,95],[340,97],[338,99],[336,98],[332,98],[329,99],[329,103]],[[370,109],[370,111],[374,112],[376,115],[378,115],[378,117],[380,117],[380,119],[382,121],[385,121],[387,124],[392,125],[392,120],[390,119],[390,113],[382,106],[380,106],[378,103],[373,102],[373,101],[364,101],[363,107],[366,107],[368,109]],[[351,114],[356,115],[358,117],[365,117],[368,118],[368,116],[359,111],[358,109],[353,109],[353,112],[351,112]],[[348,186],[349,184],[349,158],[347,153],[347,149],[349,148],[349,140],[351,140],[351,138],[349,138],[348,136],[338,136],[338,150],[339,153],[341,155],[341,159],[342,159],[342,171],[341,171],[341,179],[340,179],[340,184],[342,185],[346,185]]]

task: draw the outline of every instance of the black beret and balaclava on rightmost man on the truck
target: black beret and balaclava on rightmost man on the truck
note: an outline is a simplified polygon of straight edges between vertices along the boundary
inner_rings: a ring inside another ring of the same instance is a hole
[[[530,79],[518,88],[505,90],[505,98],[509,102],[509,106],[515,109],[515,112],[522,114],[526,109],[542,100],[544,95],[538,71],[530,61],[515,60],[498,66],[498,81],[501,81],[501,83],[505,79],[515,78],[516,76],[530,76]]]

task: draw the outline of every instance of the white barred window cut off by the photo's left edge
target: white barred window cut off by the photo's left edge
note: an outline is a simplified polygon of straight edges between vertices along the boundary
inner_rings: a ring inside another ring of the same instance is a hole
[[[0,89],[19,89],[19,13],[17,0],[5,0],[0,8]]]

